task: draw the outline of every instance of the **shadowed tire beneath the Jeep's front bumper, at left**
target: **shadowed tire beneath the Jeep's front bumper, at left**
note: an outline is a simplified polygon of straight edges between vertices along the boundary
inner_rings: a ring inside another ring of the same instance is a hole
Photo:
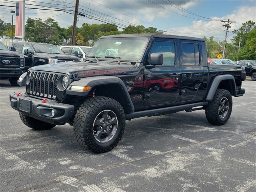
[[[34,130],[49,130],[56,126],[54,124],[46,123],[46,122],[37,120],[35,118],[32,118],[30,116],[26,116],[22,112],[19,112],[19,115],[20,115],[20,119],[22,120],[22,122],[26,126],[28,126],[29,128],[32,128]]]

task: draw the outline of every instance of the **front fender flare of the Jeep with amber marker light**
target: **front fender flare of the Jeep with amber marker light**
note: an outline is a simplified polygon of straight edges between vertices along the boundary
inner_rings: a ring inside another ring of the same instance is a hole
[[[129,106],[132,108],[132,112],[134,112],[134,105],[132,103],[132,99],[130,97],[130,94],[128,93],[128,90],[124,84],[124,82],[116,77],[116,76],[96,76],[96,77],[86,77],[86,78],[81,78],[78,81],[72,82],[67,90],[66,93],[68,95],[76,95],[76,96],[87,96],[89,91],[84,91],[84,92],[79,92],[79,91],[74,91],[70,90],[71,86],[91,86],[94,88],[97,85],[108,85],[108,84],[117,84],[121,87],[121,91],[126,96],[126,102],[129,104]]]

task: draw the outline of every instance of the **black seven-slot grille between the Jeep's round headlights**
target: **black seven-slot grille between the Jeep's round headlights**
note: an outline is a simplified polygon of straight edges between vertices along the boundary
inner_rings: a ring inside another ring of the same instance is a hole
[[[56,98],[56,81],[58,74],[43,71],[31,71],[31,80],[28,85],[30,94],[44,98]]]

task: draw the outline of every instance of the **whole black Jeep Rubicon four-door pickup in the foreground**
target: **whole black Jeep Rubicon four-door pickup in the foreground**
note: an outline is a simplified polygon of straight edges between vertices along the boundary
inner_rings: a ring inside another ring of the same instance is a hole
[[[86,59],[30,68],[18,81],[26,92],[11,93],[10,105],[36,130],[69,123],[80,146],[96,153],[114,148],[133,118],[201,109],[223,125],[232,96],[245,93],[241,66],[208,66],[201,38],[103,36]]]

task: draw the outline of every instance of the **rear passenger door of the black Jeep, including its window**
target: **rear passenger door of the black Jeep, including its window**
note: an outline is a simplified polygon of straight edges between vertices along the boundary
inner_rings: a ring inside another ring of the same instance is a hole
[[[180,100],[200,101],[205,91],[202,88],[204,75],[202,46],[200,41],[179,40],[180,46]]]

